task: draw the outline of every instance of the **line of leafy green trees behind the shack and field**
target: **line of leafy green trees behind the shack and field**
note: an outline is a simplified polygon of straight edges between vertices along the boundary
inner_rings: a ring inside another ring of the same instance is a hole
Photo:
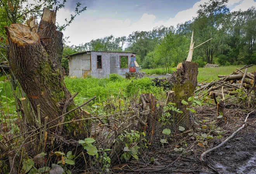
[[[150,31],[134,31],[128,37],[113,35],[92,40],[79,46],[65,46],[64,55],[75,52],[132,51],[143,68],[165,67],[170,72],[187,58],[192,30],[197,46],[193,61],[219,65],[256,63],[256,8],[233,11],[228,0],[209,0],[199,6],[197,16],[176,27],[160,26]]]

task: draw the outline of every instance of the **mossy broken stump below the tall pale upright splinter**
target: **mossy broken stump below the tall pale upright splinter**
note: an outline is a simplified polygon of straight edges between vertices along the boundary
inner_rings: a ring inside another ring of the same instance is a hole
[[[173,73],[173,88],[171,93],[171,98],[168,101],[176,103],[175,107],[183,111],[182,114],[177,112],[172,112],[173,126],[175,126],[176,131],[178,131],[179,126],[184,127],[186,130],[192,127],[190,121],[189,108],[190,105],[182,104],[182,100],[188,102],[189,97],[194,96],[194,90],[197,86],[197,74],[198,74],[198,64],[183,61],[182,65],[176,69]]]

